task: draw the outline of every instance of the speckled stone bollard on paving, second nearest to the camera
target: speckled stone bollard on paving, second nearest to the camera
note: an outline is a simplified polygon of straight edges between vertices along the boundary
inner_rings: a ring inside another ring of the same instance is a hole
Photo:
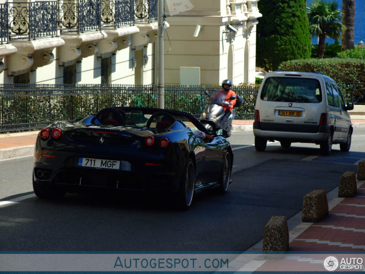
[[[303,198],[301,219],[303,222],[318,222],[328,214],[325,190],[313,190]]]

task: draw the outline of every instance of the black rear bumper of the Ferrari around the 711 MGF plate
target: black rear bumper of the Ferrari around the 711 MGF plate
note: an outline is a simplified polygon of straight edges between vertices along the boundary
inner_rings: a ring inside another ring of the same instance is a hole
[[[46,152],[47,153],[47,152]],[[130,192],[163,191],[173,193],[178,190],[183,165],[164,159],[116,159],[107,155],[89,155],[91,158],[126,160],[131,170],[111,170],[78,167],[79,155],[67,152],[52,152],[55,158],[35,159],[33,179],[37,182],[54,185],[67,192],[88,192],[93,190],[115,190]],[[81,155],[80,155],[81,156]],[[83,157],[87,157],[82,155]],[[148,166],[145,162],[161,163],[161,166]],[[37,171],[47,172],[39,176]]]

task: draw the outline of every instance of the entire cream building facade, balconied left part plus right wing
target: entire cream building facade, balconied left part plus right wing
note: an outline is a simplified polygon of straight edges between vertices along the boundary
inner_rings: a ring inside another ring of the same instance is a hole
[[[184,66],[201,84],[254,82],[257,1],[191,0],[168,17],[165,83]],[[0,84],[156,84],[157,4],[0,0]]]

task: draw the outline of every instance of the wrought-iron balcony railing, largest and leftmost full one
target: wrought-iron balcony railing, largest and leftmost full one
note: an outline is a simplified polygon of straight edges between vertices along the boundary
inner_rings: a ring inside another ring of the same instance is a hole
[[[4,29],[3,24],[1,24],[1,33],[8,29],[10,39],[28,38],[34,40],[39,37],[57,36],[56,1],[13,2],[9,3],[7,8],[9,23],[4,24]],[[9,25],[5,28],[7,24]]]

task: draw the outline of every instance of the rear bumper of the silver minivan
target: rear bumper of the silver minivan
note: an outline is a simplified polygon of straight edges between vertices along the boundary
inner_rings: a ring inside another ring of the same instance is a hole
[[[274,124],[262,126],[260,122],[254,122],[253,133],[256,137],[267,140],[290,140],[292,142],[321,142],[327,140],[330,133],[329,126],[298,126]],[[262,129],[262,128],[265,128]],[[275,130],[276,129],[276,130]]]

